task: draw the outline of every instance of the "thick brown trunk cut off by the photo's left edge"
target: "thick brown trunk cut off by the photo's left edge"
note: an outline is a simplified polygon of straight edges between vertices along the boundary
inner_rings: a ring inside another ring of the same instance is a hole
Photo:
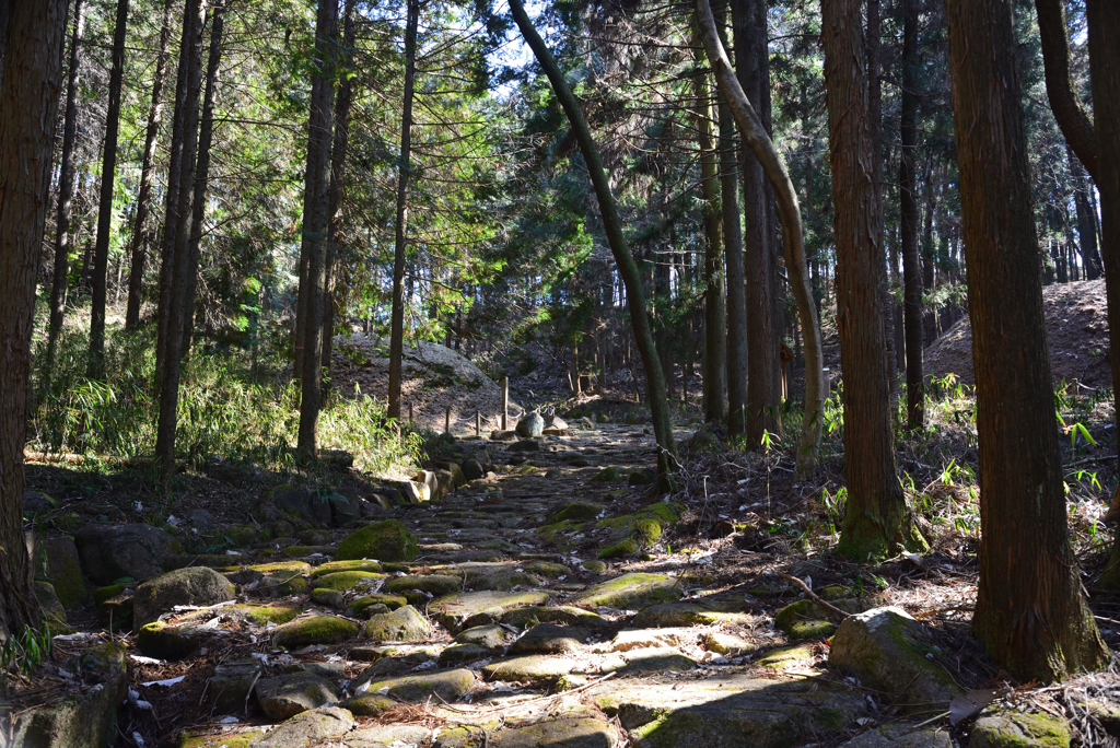
[[[4,3],[7,7],[8,3]],[[67,0],[12,3],[0,86],[0,634],[38,626],[24,542],[35,274],[50,193]]]

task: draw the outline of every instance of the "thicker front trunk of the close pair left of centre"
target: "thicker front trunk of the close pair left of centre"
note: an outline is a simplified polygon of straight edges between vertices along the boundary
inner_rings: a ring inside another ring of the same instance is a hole
[[[327,191],[330,187],[330,128],[335,109],[335,45],[338,0],[319,0],[316,21],[316,74],[311,81],[311,111],[304,180],[304,246],[307,258],[307,321],[304,324],[302,399],[299,408],[299,450],[318,455],[316,430],[323,399],[323,302],[327,284]]]

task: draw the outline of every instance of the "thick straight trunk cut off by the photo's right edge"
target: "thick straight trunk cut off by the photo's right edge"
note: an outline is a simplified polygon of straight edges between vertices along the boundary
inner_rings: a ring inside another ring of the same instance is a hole
[[[1120,38],[1120,8],[1116,2],[1089,0],[1085,11],[1089,18],[1089,68],[1098,155],[1094,180],[1101,193],[1101,259],[1109,300],[1112,392],[1116,396],[1120,393],[1120,60],[1111,45]],[[1099,585],[1120,589],[1120,531],[1117,532],[1109,567]]]

